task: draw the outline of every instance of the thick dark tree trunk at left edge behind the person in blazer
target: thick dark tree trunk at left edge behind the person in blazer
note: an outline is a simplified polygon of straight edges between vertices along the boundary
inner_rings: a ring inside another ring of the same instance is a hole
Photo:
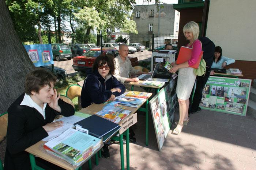
[[[0,113],[3,113],[24,92],[25,76],[35,67],[14,30],[4,0],[0,0],[0,16]]]

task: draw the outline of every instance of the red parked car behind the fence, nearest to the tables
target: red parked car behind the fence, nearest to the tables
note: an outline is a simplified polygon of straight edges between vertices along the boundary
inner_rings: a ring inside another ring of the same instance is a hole
[[[93,67],[93,62],[100,54],[100,49],[91,49],[84,53],[82,56],[74,57],[72,67],[75,71],[87,71]],[[110,54],[116,57],[119,53],[117,50],[103,50],[102,54]]]

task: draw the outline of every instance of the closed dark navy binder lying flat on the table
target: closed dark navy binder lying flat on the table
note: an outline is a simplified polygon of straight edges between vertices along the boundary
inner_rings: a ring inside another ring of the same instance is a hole
[[[91,115],[74,123],[74,125],[76,124],[82,126],[83,129],[87,129],[89,135],[102,138],[103,142],[106,142],[111,137],[111,134],[114,135],[121,128],[117,123],[110,122],[97,115]]]

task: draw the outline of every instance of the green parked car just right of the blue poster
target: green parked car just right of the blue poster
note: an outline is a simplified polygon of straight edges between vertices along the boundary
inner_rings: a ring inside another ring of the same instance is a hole
[[[52,44],[52,55],[53,59],[60,62],[61,59],[68,59],[72,58],[71,49],[67,44]]]

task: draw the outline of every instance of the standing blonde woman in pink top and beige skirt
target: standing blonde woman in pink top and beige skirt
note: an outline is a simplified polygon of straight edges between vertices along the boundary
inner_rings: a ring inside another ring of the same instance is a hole
[[[178,80],[176,93],[179,102],[179,112],[180,118],[176,122],[177,127],[173,130],[174,134],[179,134],[182,130],[183,123],[188,122],[188,108],[189,108],[189,96],[191,94],[192,88],[194,86],[196,75],[191,66],[195,65],[197,60],[199,60],[199,55],[202,51],[202,44],[198,40],[199,26],[194,21],[190,21],[183,27],[183,33],[189,44],[187,47],[192,48],[191,58],[182,64],[172,63],[173,67],[170,72],[178,71]]]

